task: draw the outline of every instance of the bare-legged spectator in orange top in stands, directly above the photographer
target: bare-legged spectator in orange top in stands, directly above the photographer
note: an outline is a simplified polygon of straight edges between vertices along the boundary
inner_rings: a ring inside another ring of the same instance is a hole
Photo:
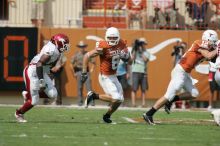
[[[133,20],[138,19],[141,29],[147,25],[147,2],[146,0],[127,0],[127,28],[133,28]]]

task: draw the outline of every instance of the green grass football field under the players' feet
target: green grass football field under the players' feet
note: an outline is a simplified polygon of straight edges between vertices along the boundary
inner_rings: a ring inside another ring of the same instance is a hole
[[[220,146],[220,127],[204,111],[160,111],[150,126],[144,110],[119,110],[105,124],[106,109],[35,107],[28,123],[15,121],[15,109],[0,107],[0,146]]]

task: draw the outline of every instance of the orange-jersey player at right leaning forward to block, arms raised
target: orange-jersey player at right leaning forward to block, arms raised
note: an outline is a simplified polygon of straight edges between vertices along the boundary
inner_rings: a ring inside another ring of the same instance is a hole
[[[159,98],[153,107],[143,114],[144,120],[155,125],[153,115],[165,105],[167,113],[173,102],[179,100],[195,99],[199,95],[199,91],[193,84],[190,72],[204,59],[212,59],[216,56],[216,42],[218,34],[214,30],[206,30],[201,40],[193,42],[192,46],[182,56],[180,62],[172,70],[171,80],[164,96]],[[179,90],[184,88],[188,93],[175,95]]]

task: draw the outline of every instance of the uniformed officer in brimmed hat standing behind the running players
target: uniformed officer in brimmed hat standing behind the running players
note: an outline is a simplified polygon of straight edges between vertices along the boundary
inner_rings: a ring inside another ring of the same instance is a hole
[[[87,53],[85,50],[87,48],[87,44],[85,44],[83,41],[80,41],[77,44],[77,47],[80,49],[77,53],[75,53],[72,58],[71,58],[71,69],[73,71],[73,75],[77,80],[77,96],[78,96],[78,105],[82,106],[83,105],[83,85],[84,83],[81,82],[81,73],[82,73],[82,67],[83,67],[83,57]],[[86,80],[85,85],[86,85],[86,90],[91,91],[91,78],[90,78],[90,73],[93,72],[94,67],[95,67],[95,61],[93,59],[89,60],[89,63],[91,64],[90,70],[89,67],[87,68],[87,74],[88,74],[88,80]],[[94,101],[92,105],[95,105]]]

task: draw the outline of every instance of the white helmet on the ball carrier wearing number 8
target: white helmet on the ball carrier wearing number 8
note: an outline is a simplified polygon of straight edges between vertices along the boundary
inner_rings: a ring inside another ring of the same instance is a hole
[[[110,46],[115,46],[120,40],[120,33],[117,28],[110,27],[106,30],[105,40]]]

